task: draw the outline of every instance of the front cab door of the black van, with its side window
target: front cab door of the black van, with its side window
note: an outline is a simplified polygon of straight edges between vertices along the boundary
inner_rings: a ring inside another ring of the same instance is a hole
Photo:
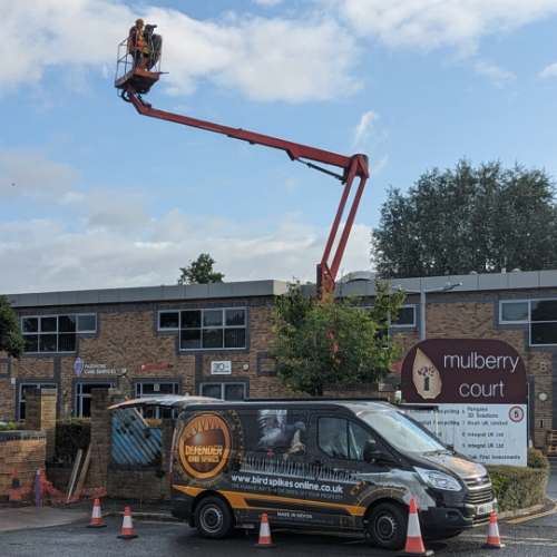
[[[306,452],[305,512],[319,526],[361,529],[370,494],[382,470],[363,459],[368,441],[378,439],[350,417],[312,413]]]

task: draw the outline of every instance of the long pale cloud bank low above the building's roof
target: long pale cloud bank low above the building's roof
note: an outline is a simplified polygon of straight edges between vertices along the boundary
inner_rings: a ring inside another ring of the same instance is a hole
[[[273,232],[254,232],[257,223],[221,222],[226,226],[214,227],[215,219],[173,212],[155,222],[158,232],[143,241],[116,227],[85,225],[72,232],[47,219],[0,223],[0,261],[9,262],[2,270],[1,289],[17,294],[175,284],[179,267],[201,253],[212,255],[226,282],[290,281],[293,275],[314,282],[329,229],[284,218]],[[179,219],[192,226],[179,229]],[[222,229],[233,233],[215,233]],[[353,226],[343,271],[369,268],[370,232],[368,226]]]

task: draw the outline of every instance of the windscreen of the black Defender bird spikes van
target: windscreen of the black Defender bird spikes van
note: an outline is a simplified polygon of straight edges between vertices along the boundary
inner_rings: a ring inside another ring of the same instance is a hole
[[[447,448],[429,431],[397,411],[361,412],[359,417],[397,449],[407,452],[444,451]]]

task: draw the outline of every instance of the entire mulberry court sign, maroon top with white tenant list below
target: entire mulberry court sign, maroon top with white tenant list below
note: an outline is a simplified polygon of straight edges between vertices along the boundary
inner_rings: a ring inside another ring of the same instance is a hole
[[[455,450],[488,465],[526,466],[526,368],[509,344],[431,339],[404,358],[402,398],[433,410],[408,410]]]

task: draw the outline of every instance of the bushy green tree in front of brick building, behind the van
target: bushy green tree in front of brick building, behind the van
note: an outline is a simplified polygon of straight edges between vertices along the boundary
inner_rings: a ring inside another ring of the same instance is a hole
[[[388,334],[404,294],[389,295],[389,284],[375,282],[373,306],[361,299],[338,299],[324,292],[322,300],[304,297],[300,284],[277,296],[274,306],[274,342],[278,381],[294,391],[322,395],[326,383],[377,382],[392,372],[401,356]]]

